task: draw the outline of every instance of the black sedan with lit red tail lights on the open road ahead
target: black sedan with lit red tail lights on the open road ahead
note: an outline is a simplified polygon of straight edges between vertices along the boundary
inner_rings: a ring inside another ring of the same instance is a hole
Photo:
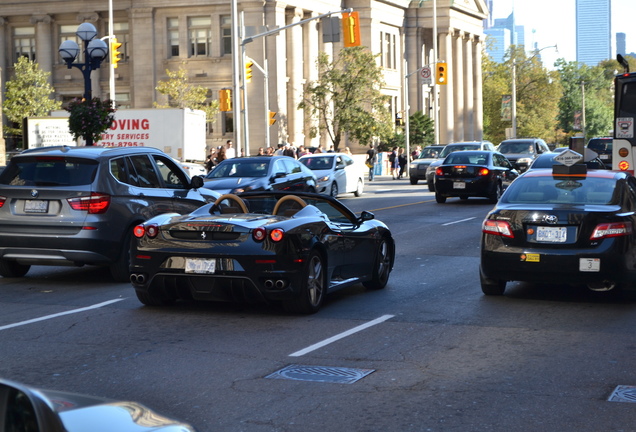
[[[446,156],[435,171],[435,200],[485,197],[496,203],[519,173],[501,153],[458,151]]]

